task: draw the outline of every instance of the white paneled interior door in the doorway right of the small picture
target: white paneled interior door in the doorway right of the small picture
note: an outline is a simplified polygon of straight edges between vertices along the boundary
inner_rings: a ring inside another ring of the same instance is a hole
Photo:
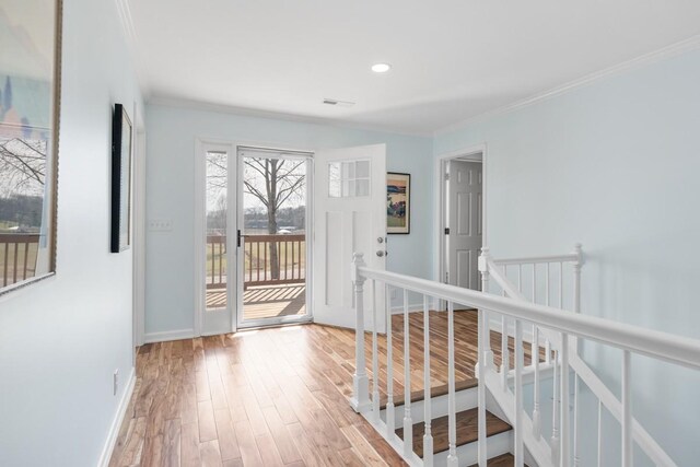
[[[451,161],[448,167],[448,282],[480,290],[478,259],[482,245],[482,164]]]

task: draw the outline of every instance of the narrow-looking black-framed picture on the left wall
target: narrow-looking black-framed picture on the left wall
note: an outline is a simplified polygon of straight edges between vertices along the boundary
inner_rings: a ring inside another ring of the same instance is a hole
[[[112,253],[131,244],[131,120],[115,104],[112,120]]]

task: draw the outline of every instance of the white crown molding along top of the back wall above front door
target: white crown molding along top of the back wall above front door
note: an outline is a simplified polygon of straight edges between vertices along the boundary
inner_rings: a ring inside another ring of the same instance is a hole
[[[184,108],[188,110],[199,110],[199,112],[214,112],[219,114],[229,114],[236,115],[240,117],[254,117],[254,118],[266,118],[266,119],[275,119],[282,121],[291,121],[296,124],[310,124],[310,125],[319,125],[325,127],[334,127],[341,129],[350,129],[358,131],[371,131],[375,133],[389,133],[405,137],[415,137],[415,138],[432,138],[431,131],[406,131],[399,130],[392,127],[383,127],[381,125],[368,126],[362,124],[353,124],[348,120],[336,120],[331,118],[324,117],[312,117],[306,115],[298,115],[298,114],[285,114],[282,112],[273,112],[273,110],[260,110],[248,107],[236,107],[233,105],[225,104],[213,104],[201,101],[191,101],[179,97],[165,97],[165,96],[150,96],[147,104],[156,105],[162,107],[176,107]]]

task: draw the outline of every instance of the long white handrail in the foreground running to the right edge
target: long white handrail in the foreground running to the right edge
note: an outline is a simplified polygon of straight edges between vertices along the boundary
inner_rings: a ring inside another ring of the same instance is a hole
[[[700,370],[700,340],[698,339],[597,316],[561,313],[561,310],[551,306],[490,295],[456,285],[372,269],[366,266],[358,267],[358,272],[366,279],[380,280],[418,293],[470,305],[475,308],[498,312],[557,331],[585,337],[611,347]]]

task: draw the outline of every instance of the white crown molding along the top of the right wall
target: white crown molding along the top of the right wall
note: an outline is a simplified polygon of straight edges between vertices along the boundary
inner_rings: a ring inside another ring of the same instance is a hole
[[[483,121],[489,118],[493,118],[499,115],[510,114],[512,112],[518,110],[521,108],[528,107],[533,104],[537,104],[542,101],[547,101],[553,97],[557,97],[562,94],[567,94],[580,87],[585,87],[587,85],[594,84],[598,81],[622,74],[627,71],[631,71],[648,65],[656,63],[658,61],[663,61],[665,59],[677,57],[685,52],[696,50],[700,48],[700,35],[696,35],[689,37],[687,39],[680,40],[678,43],[672,44],[664,48],[654,50],[649,54],[644,54],[642,56],[635,57],[631,60],[623,61],[621,63],[615,65],[609,68],[605,68],[603,70],[593,72],[591,74],[586,74],[582,78],[575,79],[573,81],[569,81],[568,83],[558,85],[548,91],[534,94],[529,97],[526,97],[521,101],[516,101],[512,104],[495,108],[493,110],[488,110],[482,114],[476,115],[474,117],[467,118],[465,120],[460,120],[456,124],[448,125],[444,128],[433,131],[433,137],[438,137],[441,135],[446,135],[453,131],[457,131],[468,127],[469,125],[474,125],[478,121]]]

